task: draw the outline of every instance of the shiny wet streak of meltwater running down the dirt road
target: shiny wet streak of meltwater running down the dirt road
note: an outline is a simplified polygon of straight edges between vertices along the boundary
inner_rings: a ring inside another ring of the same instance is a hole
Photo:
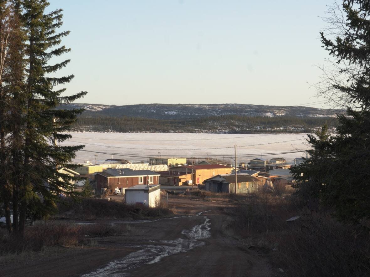
[[[208,212],[208,211],[207,211]],[[171,256],[181,252],[188,252],[194,247],[203,246],[205,243],[199,240],[207,239],[211,236],[211,228],[209,225],[209,218],[202,215],[204,212],[200,212],[197,216],[202,216],[204,222],[199,225],[195,225],[191,230],[182,230],[182,234],[185,235],[186,239],[176,240],[161,240],[158,243],[164,245],[140,245],[134,247],[144,248],[133,252],[122,260],[115,260],[110,262],[107,266],[95,270],[91,273],[85,274],[82,277],[92,276],[109,276],[109,277],[122,277],[129,276],[129,273],[125,272],[136,267],[140,267],[144,264],[154,264],[160,261],[163,257]]]

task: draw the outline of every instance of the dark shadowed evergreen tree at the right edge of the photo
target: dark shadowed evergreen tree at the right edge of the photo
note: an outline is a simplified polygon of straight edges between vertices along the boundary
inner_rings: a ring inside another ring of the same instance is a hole
[[[370,2],[344,0],[342,8],[346,18],[338,25],[343,29],[334,39],[321,33],[321,40],[337,64],[343,65],[339,73],[347,77],[345,82],[332,83],[330,90],[344,95],[352,107],[347,116],[338,116],[336,135],[320,143],[310,139],[317,155],[293,172],[298,187],[313,184],[314,193],[334,208],[337,218],[359,222],[370,218]],[[322,153],[320,147],[325,148]],[[315,175],[315,170],[321,174]]]

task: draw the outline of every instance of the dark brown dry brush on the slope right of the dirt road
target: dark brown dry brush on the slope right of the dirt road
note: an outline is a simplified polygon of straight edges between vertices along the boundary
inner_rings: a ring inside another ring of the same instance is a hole
[[[283,276],[370,276],[369,228],[310,211],[294,196],[258,193],[233,199],[229,228],[247,247],[269,253]],[[301,218],[286,222],[292,216]]]

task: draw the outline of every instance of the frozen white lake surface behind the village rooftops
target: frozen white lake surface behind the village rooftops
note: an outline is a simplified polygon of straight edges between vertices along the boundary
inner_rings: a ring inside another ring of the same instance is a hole
[[[78,151],[76,163],[97,162],[111,158],[147,161],[150,157],[209,157],[229,160],[234,155],[238,163],[256,157],[284,157],[287,163],[305,155],[291,153],[309,149],[307,134],[195,134],[195,133],[70,133],[73,138],[61,145],[85,144]],[[97,152],[97,153],[94,153]],[[286,154],[272,154],[283,153]],[[104,154],[103,154],[104,153]],[[267,154],[267,155],[266,155]],[[241,155],[241,156],[240,156]],[[224,158],[225,157],[225,158]]]

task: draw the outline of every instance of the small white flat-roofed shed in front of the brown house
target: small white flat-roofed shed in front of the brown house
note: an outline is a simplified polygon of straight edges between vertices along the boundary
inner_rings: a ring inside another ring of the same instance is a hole
[[[158,206],[161,202],[161,185],[136,185],[125,190],[126,204],[144,204],[151,208]]]

